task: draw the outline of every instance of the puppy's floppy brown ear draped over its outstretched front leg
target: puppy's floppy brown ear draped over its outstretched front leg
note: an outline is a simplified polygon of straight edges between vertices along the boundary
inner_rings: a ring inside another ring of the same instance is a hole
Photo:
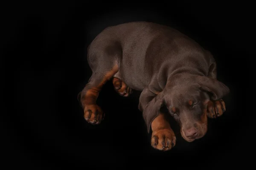
[[[163,92],[155,96],[143,110],[143,118],[145,120],[148,133],[151,130],[151,123],[159,115],[160,108],[163,106]],[[141,110],[141,109],[140,109]]]

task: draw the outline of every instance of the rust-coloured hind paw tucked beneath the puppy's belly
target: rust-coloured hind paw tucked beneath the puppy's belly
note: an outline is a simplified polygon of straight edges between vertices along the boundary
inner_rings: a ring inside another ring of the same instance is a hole
[[[116,77],[113,79],[113,85],[114,85],[116,92],[120,96],[128,97],[133,92],[132,89],[125,84],[125,82],[123,82],[120,79],[117,79]]]

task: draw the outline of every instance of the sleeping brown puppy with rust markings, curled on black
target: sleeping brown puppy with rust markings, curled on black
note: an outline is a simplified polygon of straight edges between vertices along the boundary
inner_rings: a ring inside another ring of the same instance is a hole
[[[88,47],[93,71],[79,93],[84,118],[99,124],[103,117],[96,99],[113,78],[116,91],[129,96],[142,91],[139,109],[152,130],[151,145],[159,150],[175,146],[176,137],[160,108],[166,106],[180,124],[182,137],[192,142],[207,132],[207,117],[226,110],[222,98],[229,88],[216,79],[212,55],[179,31],[148,22],[105,28]]]

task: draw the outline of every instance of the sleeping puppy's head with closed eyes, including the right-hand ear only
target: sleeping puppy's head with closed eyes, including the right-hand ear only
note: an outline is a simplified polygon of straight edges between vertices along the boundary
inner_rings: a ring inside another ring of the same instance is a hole
[[[163,102],[180,124],[183,139],[192,142],[207,132],[209,100],[221,99],[229,88],[216,79],[200,76],[184,84],[166,86],[163,92]]]

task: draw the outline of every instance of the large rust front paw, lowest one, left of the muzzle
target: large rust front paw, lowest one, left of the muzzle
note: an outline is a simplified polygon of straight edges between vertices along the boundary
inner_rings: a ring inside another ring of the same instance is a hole
[[[172,149],[176,144],[176,136],[172,129],[155,130],[151,137],[151,146],[155,149],[166,151]]]

